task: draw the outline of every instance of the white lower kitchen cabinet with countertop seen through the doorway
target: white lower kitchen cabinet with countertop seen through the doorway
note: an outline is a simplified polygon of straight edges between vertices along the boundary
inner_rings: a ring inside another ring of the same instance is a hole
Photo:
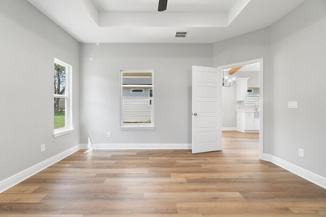
[[[255,118],[255,112],[237,112],[237,131],[242,133],[258,133],[259,118]]]

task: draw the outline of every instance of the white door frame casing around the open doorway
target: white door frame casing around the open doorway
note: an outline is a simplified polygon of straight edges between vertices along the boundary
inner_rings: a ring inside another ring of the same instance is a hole
[[[263,153],[264,153],[264,145],[263,145],[263,136],[264,136],[264,58],[259,59],[253,59],[248,61],[243,61],[239,63],[224,65],[224,66],[218,66],[218,69],[229,69],[234,67],[240,67],[244,65],[250,65],[250,64],[257,64],[259,63],[259,89],[260,89],[260,98],[259,98],[259,159],[263,160]],[[222,144],[223,145],[223,144]]]

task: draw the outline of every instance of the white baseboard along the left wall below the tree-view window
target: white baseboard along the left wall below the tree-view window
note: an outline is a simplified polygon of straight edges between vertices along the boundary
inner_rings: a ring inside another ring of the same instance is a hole
[[[0,181],[0,193],[6,191],[7,189],[13,187],[14,185],[18,184],[19,182],[25,180],[26,178],[31,177],[32,175],[40,172],[41,170],[44,170],[45,168],[57,163],[58,161],[61,161],[62,159],[70,156],[70,154],[78,151],[80,149],[80,145],[75,145],[72,148],[69,148],[68,150],[65,150],[56,156],[53,156],[39,164],[36,164],[28,169],[25,169],[13,176],[10,176],[9,178],[6,178],[2,181]]]

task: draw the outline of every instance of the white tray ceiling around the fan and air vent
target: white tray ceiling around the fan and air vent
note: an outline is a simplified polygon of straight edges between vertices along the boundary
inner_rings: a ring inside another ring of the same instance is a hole
[[[82,43],[214,43],[269,26],[304,0],[27,0]],[[175,38],[175,32],[189,32]]]

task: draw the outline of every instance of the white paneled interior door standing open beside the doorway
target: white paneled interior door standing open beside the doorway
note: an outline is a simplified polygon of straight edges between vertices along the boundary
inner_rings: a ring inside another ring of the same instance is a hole
[[[222,150],[222,77],[218,68],[193,66],[193,153]]]

